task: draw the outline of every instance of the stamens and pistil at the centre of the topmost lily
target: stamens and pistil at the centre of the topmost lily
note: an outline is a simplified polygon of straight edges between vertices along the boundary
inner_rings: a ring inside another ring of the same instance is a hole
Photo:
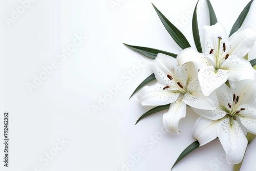
[[[229,56],[229,54],[225,54],[226,51],[226,44],[225,42],[221,42],[222,38],[219,36],[218,37],[218,50],[217,52],[214,52],[214,49],[211,49],[209,54],[214,54],[215,55],[215,70],[218,71],[221,67],[222,61],[226,60]],[[222,44],[222,46],[221,46]],[[221,50],[221,53],[220,53]]]

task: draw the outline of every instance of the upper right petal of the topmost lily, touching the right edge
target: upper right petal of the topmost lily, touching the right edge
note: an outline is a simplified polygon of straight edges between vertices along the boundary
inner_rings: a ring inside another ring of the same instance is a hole
[[[251,27],[242,27],[229,37],[228,54],[244,57],[254,45],[256,32]]]

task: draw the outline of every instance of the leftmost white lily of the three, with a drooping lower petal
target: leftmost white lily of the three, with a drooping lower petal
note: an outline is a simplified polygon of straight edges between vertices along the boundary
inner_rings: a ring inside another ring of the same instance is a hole
[[[177,60],[159,53],[152,61],[152,70],[157,79],[153,86],[145,86],[137,97],[142,105],[170,104],[168,112],[163,115],[167,131],[179,133],[178,123],[186,115],[186,104],[198,109],[216,109],[216,93],[204,96],[197,81],[197,71],[192,62],[178,66]]]

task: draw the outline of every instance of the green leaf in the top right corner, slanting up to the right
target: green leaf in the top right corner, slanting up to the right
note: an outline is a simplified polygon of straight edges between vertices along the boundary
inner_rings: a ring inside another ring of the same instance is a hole
[[[236,22],[234,23],[231,31],[230,31],[230,34],[229,34],[229,37],[236,31],[238,31],[238,29],[242,26],[243,22],[244,22],[244,19],[246,18],[249,10],[250,10],[250,7],[251,7],[251,3],[253,2],[253,0],[251,0],[243,9],[243,11],[241,12],[241,14],[239,15],[238,19],[236,20]]]

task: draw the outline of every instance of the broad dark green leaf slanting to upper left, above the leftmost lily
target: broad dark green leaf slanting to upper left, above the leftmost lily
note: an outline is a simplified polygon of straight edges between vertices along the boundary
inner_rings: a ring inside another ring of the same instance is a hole
[[[189,48],[191,47],[189,45],[189,42],[187,41],[186,37],[181,33],[177,27],[175,27],[172,23],[169,22],[169,20],[152,4],[155,8],[159,18],[161,19],[161,22],[163,23],[165,29],[168,31],[170,36],[173,37],[174,41],[182,48]]]

